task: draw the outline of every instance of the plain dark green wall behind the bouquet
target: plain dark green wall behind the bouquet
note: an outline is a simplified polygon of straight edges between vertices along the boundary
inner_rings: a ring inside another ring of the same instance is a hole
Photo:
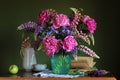
[[[120,76],[119,3],[116,0],[1,0],[0,1],[0,74],[8,72],[11,64],[22,68],[20,56],[21,32],[17,27],[37,21],[39,11],[53,8],[59,13],[70,13],[69,7],[83,8],[84,14],[97,21],[94,51],[101,57],[96,66]],[[38,63],[47,63],[48,56],[37,54]]]

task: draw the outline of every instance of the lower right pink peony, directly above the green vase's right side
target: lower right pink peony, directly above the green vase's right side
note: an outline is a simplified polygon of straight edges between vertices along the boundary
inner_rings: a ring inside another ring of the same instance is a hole
[[[63,49],[65,49],[68,52],[72,51],[78,45],[77,41],[74,39],[73,36],[65,37],[62,44],[63,44]]]

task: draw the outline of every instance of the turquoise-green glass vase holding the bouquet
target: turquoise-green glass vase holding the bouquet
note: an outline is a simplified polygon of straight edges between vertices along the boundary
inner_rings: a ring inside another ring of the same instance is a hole
[[[55,54],[51,58],[51,67],[54,74],[67,74],[70,70],[70,55]]]

